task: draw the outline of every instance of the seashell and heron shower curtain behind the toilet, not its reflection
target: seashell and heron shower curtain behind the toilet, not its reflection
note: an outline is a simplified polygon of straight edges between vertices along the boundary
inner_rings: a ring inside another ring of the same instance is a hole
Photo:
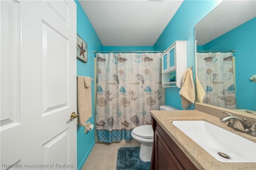
[[[150,110],[164,104],[161,53],[97,53],[98,141],[133,140],[131,131],[150,125]]]

